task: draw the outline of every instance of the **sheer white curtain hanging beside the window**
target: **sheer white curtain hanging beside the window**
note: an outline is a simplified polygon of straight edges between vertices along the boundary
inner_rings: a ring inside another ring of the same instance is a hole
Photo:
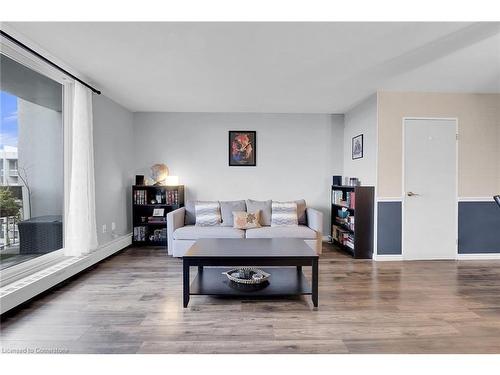
[[[75,82],[69,126],[69,183],[65,254],[84,255],[97,248],[95,219],[92,93]]]

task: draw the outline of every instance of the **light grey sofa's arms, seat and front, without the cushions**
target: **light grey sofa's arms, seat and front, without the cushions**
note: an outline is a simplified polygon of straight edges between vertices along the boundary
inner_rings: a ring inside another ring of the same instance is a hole
[[[305,216],[305,225],[242,230],[232,226],[186,224],[186,207],[182,207],[167,214],[168,254],[182,257],[200,238],[301,238],[321,254],[323,214],[313,208],[305,208]]]

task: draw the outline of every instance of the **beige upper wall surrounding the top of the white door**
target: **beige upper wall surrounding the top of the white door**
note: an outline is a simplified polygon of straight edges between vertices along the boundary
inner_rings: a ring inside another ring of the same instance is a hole
[[[378,197],[403,194],[403,117],[458,118],[459,197],[500,193],[500,94],[379,92]]]

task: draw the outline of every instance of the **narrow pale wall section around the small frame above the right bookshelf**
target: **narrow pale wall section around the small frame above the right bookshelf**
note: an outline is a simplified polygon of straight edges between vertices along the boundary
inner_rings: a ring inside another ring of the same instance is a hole
[[[352,138],[363,134],[363,158],[352,160]],[[362,185],[377,181],[377,95],[372,95],[345,114],[344,173],[357,177]]]

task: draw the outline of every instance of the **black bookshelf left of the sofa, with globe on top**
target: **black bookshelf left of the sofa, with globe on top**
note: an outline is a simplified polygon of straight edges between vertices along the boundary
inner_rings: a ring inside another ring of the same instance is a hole
[[[167,213],[184,207],[184,185],[132,186],[132,244],[167,246]],[[162,209],[161,216],[154,216]]]

